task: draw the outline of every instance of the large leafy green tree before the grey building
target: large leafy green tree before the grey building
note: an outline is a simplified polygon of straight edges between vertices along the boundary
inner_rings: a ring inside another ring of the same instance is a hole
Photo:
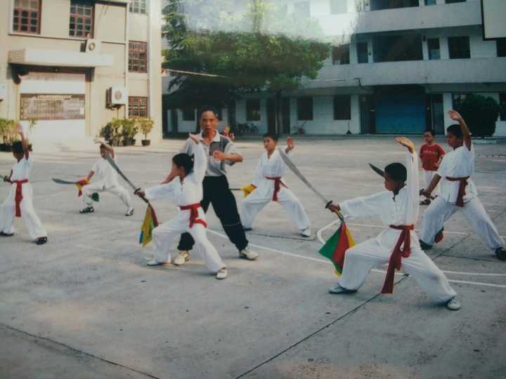
[[[298,88],[304,77],[315,79],[330,44],[314,20],[273,1],[237,7],[229,0],[171,0],[164,8],[164,67],[179,71],[169,86],[169,105],[227,105],[244,93],[271,91],[280,125],[282,91]]]

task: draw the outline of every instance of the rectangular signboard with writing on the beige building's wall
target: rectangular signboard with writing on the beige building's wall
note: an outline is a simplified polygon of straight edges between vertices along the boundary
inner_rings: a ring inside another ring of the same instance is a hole
[[[84,118],[84,95],[21,94],[22,120],[84,120]]]

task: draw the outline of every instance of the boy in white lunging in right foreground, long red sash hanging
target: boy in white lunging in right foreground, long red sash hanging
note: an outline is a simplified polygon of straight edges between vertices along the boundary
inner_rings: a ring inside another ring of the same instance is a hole
[[[415,146],[408,138],[396,141],[408,148],[406,167],[389,164],[384,170],[387,191],[368,197],[358,197],[331,204],[330,211],[342,211],[351,217],[379,215],[387,227],[375,239],[357,244],[346,250],[342,276],[330,293],[354,292],[360,288],[373,267],[389,262],[382,293],[392,293],[395,270],[403,270],[417,281],[437,302],[446,302],[450,310],[460,309],[460,301],[448,284],[448,279],[422,251],[413,232],[418,217],[420,189],[418,159]]]

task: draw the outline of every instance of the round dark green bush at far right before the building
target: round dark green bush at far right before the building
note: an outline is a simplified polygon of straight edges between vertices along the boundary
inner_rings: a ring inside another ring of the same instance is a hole
[[[494,98],[469,95],[462,101],[458,109],[472,135],[490,137],[495,133],[495,123],[498,121],[500,106]]]

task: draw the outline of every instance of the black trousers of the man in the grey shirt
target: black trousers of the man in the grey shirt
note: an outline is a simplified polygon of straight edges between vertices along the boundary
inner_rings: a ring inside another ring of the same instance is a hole
[[[212,204],[214,213],[218,216],[223,230],[225,230],[228,239],[241,251],[248,245],[246,234],[240,222],[235,197],[228,188],[228,180],[226,176],[206,176],[202,182],[204,188],[204,196],[200,204],[207,213],[209,204]],[[191,250],[195,241],[190,233],[181,234],[178,249]]]

